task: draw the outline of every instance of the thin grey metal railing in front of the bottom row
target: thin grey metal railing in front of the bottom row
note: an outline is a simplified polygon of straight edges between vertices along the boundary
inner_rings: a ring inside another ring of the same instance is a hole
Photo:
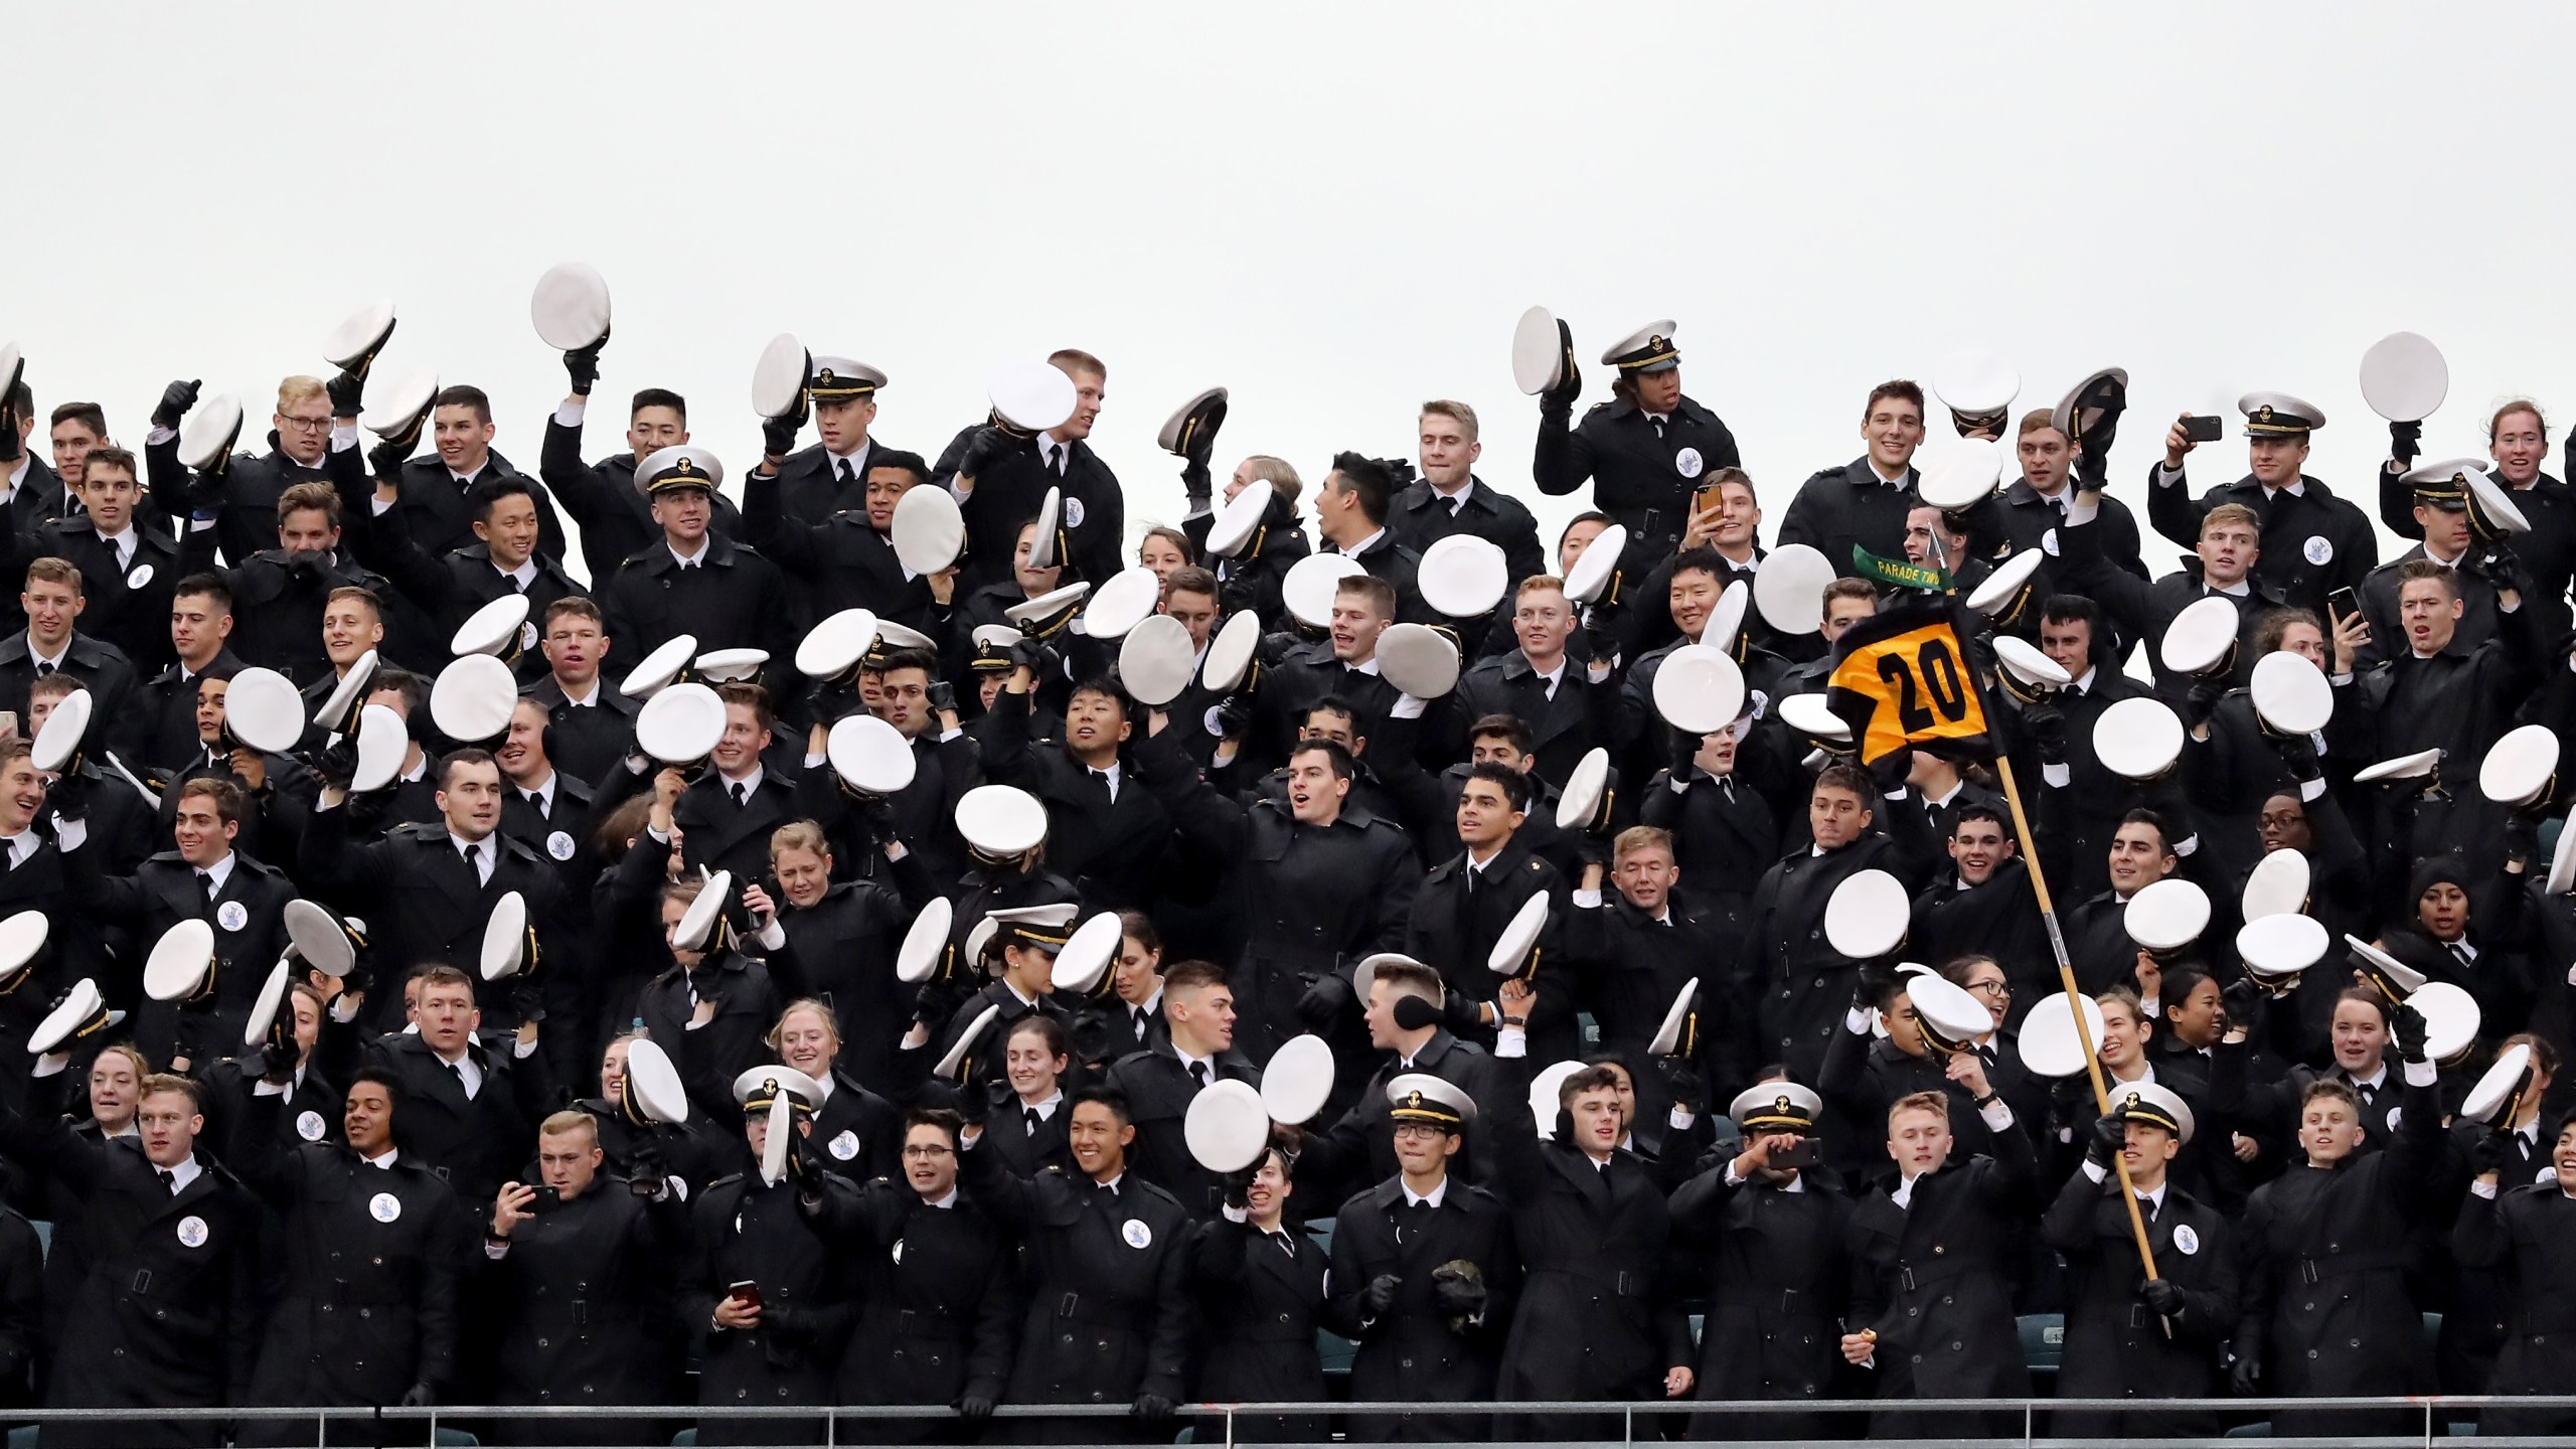
[[[2388,1415],[2406,1415],[2411,1426],[2406,1431],[2380,1434],[2380,1436],[2275,1436],[2269,1444],[2280,1446],[2316,1446],[2316,1449],[2342,1449],[2352,1444],[2416,1444],[2432,1449],[2434,1444],[2568,1444],[2568,1436],[2486,1436],[2486,1434],[2450,1434],[2452,1421],[2476,1415],[2483,1408],[2514,1408],[2514,1410],[2563,1410],[2576,1415],[2576,1395],[2385,1395],[2385,1397],[2221,1397],[2221,1400],[2138,1400],[2138,1397],[1981,1397],[1981,1400],[1651,1400],[1651,1403],[1602,1403],[1602,1400],[1546,1400],[1546,1403],[1494,1403],[1494,1400],[1427,1400],[1427,1403],[1394,1403],[1394,1400],[1314,1400],[1314,1403],[1195,1403],[1180,1405],[1170,1431],[1177,1436],[1190,1428],[1190,1436],[1200,1446],[1234,1446],[1236,1428],[1242,1421],[1332,1421],[1350,1415],[1440,1415],[1440,1418],[1522,1418],[1522,1415],[1582,1415],[1587,1421],[1602,1423],[1618,1421],[1618,1439],[1602,1434],[1597,1439],[1571,1439],[1556,1441],[1569,1449],[1602,1446],[1602,1444],[1654,1444],[1664,1439],[1664,1428],[1674,1415],[1821,1415],[1834,1421],[1850,1421],[1850,1431],[1837,1431],[1829,1439],[1816,1439],[1816,1444],[1842,1444],[1850,1439],[1862,1439],[1868,1431],[1868,1415],[1901,1410],[1909,1415],[1978,1415],[1963,1426],[1960,1436],[1973,1436],[1984,1444],[2027,1444],[2027,1446],[2063,1446],[2063,1449],[2112,1449],[2125,1446],[2125,1439],[2074,1439],[2048,1434],[2048,1415],[2053,1413],[2120,1413],[2120,1415],[2161,1415],[2161,1413],[2223,1413],[2228,1418],[2246,1418],[2257,1413],[2275,1410],[2380,1410]],[[366,1441],[399,1441],[404,1439],[397,1426],[420,1426],[412,1434],[417,1441],[430,1441],[440,1428],[466,1428],[477,1423],[489,1423],[497,1418],[510,1421],[631,1421],[636,1426],[662,1426],[662,1436],[636,1439],[636,1444],[667,1444],[672,1428],[688,1423],[714,1423],[714,1421],[799,1421],[819,1423],[824,1431],[824,1444],[866,1444],[873,1441],[871,1434],[858,1431],[845,1436],[842,1426],[858,1428],[866,1421],[945,1421],[958,1418],[956,1410],[943,1410],[935,1405],[438,1405],[438,1408],[319,1408],[319,1405],[245,1405],[245,1408],[28,1408],[28,1410],[0,1410],[0,1421],[8,1423],[118,1423],[118,1421],[147,1421],[147,1423],[222,1423],[222,1421],[265,1421],[265,1423],[312,1423],[317,1444],[366,1444]],[[1126,1405],[1048,1405],[1048,1403],[1007,1403],[994,1410],[994,1418],[1103,1418],[1103,1421],[1128,1421]],[[2002,1418],[2017,1418],[2020,1434],[1999,1431]],[[799,1441],[809,1444],[811,1439]],[[1273,1449],[1332,1449],[1332,1439],[1314,1441],[1280,1441],[1270,1431],[1260,1434],[1260,1441]],[[1940,1439],[1870,1439],[1870,1444],[1955,1444],[1958,1436]],[[2164,1446],[2192,1446],[2202,1444],[2210,1449],[2236,1446],[2244,1439],[2156,1439]],[[1066,1449],[1095,1449],[1097,1441],[1084,1441]]]

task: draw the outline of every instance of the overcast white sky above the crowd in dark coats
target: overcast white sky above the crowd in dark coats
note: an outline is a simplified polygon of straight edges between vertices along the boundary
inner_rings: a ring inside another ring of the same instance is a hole
[[[2385,428],[2354,364],[2398,327],[2450,356],[2432,456],[2483,454],[2509,392],[2576,418],[2563,5],[448,0],[10,28],[0,338],[39,407],[100,400],[126,443],[170,376],[265,418],[392,294],[381,366],[489,389],[533,472],[564,376],[528,289],[559,260],[616,297],[600,397],[677,387],[734,472],[778,330],[886,369],[876,433],[925,454],[994,364],[1090,348],[1139,526],[1180,513],[1154,428],[1226,384],[1218,469],[1273,451],[1309,480],[1468,400],[1479,474],[1553,544],[1579,500],[1530,487],[1533,302],[1587,361],[1677,317],[1772,526],[1860,451],[1873,382],[1960,345],[2009,356],[2022,405],[2128,366],[2130,498],[2161,420],[2262,387],[2329,413],[2311,472],[2367,511]],[[600,413],[592,454],[623,423]],[[2197,472],[2241,462],[2231,438]]]

